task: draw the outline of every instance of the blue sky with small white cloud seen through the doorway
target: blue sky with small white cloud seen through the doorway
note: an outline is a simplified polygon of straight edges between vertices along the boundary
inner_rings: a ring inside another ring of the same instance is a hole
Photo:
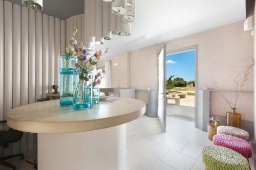
[[[195,51],[167,56],[166,79],[170,75],[174,75],[174,78],[183,78],[185,81],[195,80]]]

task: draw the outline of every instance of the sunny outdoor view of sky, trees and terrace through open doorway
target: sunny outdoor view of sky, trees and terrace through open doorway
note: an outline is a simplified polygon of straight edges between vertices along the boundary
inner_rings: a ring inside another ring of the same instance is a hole
[[[195,121],[195,50],[166,56],[166,116]]]

